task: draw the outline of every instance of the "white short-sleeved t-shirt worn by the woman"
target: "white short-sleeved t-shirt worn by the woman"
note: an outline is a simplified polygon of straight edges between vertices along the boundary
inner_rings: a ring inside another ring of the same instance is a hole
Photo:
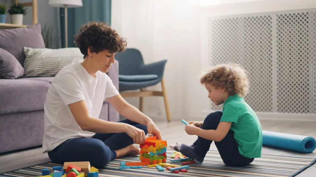
[[[69,104],[85,100],[89,115],[99,118],[103,100],[119,94],[110,77],[101,71],[92,77],[74,59],[61,69],[50,85],[44,105],[43,152],[52,151],[72,138],[91,138],[95,133],[83,131],[74,119]]]

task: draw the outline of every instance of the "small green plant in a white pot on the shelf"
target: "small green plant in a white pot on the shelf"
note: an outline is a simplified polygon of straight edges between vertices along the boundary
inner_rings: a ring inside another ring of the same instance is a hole
[[[22,25],[23,15],[27,14],[27,8],[21,3],[14,3],[9,7],[9,14],[11,15],[11,20],[13,24]]]

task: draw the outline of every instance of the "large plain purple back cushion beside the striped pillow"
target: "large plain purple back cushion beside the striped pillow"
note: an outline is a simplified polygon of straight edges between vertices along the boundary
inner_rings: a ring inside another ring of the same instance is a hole
[[[0,48],[15,56],[22,66],[25,60],[24,46],[45,48],[40,23],[25,28],[0,30],[0,39]]]

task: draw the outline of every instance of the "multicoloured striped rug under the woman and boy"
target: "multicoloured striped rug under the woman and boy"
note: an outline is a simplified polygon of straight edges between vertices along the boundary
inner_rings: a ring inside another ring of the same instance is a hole
[[[171,157],[174,150],[167,149],[167,157]],[[119,169],[120,162],[138,162],[139,157],[123,157],[112,160],[103,168],[99,168],[99,176],[102,177],[173,177],[173,176],[228,176],[228,177],[285,177],[295,176],[304,169],[310,167],[315,163],[316,159],[300,158],[300,157],[285,157],[285,156],[272,156],[262,155],[261,158],[256,158],[250,165],[242,168],[226,166],[218,151],[209,151],[202,164],[189,164],[188,172],[173,173],[165,168],[165,171],[158,171],[155,167],[143,166],[137,169]],[[170,158],[167,159],[170,162]],[[176,162],[175,164],[180,164]],[[32,167],[27,167],[7,173],[0,174],[0,177],[34,177],[40,176],[43,168],[52,170],[53,166],[59,166],[56,163],[43,163]]]

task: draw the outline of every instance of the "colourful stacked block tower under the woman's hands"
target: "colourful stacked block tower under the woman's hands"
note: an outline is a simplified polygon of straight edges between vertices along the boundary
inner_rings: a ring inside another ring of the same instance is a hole
[[[146,142],[140,145],[139,159],[144,163],[166,163],[167,141],[157,140],[156,136],[146,138]]]

